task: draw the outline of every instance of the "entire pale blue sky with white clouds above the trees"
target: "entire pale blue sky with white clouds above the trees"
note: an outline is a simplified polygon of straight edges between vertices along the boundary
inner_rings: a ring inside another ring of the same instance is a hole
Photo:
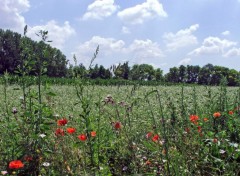
[[[240,0],[0,0],[0,28],[50,45],[69,63],[150,64],[161,68],[208,63],[240,71]]]

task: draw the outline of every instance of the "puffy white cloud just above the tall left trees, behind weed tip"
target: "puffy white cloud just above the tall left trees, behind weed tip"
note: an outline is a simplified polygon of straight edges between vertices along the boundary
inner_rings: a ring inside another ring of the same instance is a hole
[[[36,35],[40,30],[48,31],[48,39],[53,47],[62,49],[66,40],[75,34],[75,30],[70,26],[69,22],[64,22],[63,26],[57,24],[56,21],[49,21],[46,25],[29,27],[27,35],[34,40],[39,41],[40,38]]]

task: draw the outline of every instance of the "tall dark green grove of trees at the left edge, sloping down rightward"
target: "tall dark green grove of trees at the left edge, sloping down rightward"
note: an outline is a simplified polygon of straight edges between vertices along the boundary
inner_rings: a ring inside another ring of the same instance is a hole
[[[10,30],[0,29],[0,75],[4,72],[10,74],[19,74],[18,66],[24,64],[32,64],[30,75],[36,75],[37,57],[41,55],[42,48],[47,48],[48,56],[42,57],[41,62],[46,63],[46,75],[50,77],[63,77],[67,74],[66,56],[56,48],[52,48],[49,44],[42,41],[35,42],[26,35],[21,36]],[[25,60],[26,57],[32,57],[31,62]],[[27,69],[27,68],[26,68]]]

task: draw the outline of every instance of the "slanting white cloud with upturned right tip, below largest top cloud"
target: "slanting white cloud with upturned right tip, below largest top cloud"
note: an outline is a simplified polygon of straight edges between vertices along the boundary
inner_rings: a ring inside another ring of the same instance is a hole
[[[171,32],[164,34],[163,39],[167,43],[168,50],[172,51],[185,46],[197,44],[197,37],[195,37],[192,33],[195,32],[198,28],[199,25],[195,24],[187,29],[178,31],[176,34],[173,34]]]

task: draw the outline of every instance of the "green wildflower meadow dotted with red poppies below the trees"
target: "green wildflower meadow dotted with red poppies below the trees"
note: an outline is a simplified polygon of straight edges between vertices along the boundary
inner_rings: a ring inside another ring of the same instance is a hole
[[[239,87],[3,81],[0,100],[2,175],[240,174]]]

